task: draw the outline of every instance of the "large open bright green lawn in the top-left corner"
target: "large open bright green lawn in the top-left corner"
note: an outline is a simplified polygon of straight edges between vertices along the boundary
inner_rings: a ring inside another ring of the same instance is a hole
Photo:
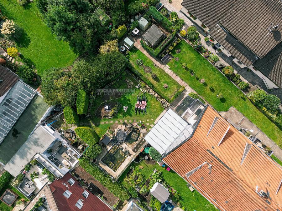
[[[23,8],[16,0],[1,0],[0,8],[3,15],[24,29],[23,38],[16,43],[17,48],[26,63],[34,64],[39,75],[51,67],[69,66],[76,59],[69,44],[56,40],[51,34],[34,3]]]

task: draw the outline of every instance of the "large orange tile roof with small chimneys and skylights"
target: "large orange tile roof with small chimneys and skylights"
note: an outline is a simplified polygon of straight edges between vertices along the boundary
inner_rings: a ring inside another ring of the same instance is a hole
[[[163,161],[221,210],[282,209],[282,187],[277,192],[281,166],[211,107],[193,137]],[[269,198],[261,197],[256,189],[269,191]]]

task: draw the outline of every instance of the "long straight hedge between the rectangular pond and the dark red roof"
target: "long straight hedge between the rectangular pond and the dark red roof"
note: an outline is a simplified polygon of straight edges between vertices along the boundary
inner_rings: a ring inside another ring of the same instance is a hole
[[[79,158],[79,165],[84,168],[91,176],[97,179],[103,186],[118,197],[121,201],[127,200],[130,197],[128,190],[120,183],[112,182],[110,176],[106,175],[94,163],[86,158]]]

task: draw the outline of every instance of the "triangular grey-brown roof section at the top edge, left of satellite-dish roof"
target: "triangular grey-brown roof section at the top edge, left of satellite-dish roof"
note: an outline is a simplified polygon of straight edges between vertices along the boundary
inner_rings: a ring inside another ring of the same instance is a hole
[[[238,0],[184,0],[181,5],[192,15],[213,28]]]

